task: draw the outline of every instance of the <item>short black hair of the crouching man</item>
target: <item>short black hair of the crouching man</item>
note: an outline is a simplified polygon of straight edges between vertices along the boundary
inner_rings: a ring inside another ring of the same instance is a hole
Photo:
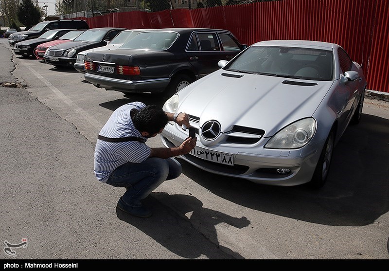
[[[132,116],[132,123],[140,132],[156,134],[164,128],[169,121],[166,113],[156,105],[148,105],[141,108]]]

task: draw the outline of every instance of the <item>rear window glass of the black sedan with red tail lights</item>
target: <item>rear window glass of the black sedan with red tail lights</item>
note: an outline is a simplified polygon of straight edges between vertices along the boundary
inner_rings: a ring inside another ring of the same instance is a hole
[[[166,50],[176,40],[175,32],[141,32],[120,49]]]

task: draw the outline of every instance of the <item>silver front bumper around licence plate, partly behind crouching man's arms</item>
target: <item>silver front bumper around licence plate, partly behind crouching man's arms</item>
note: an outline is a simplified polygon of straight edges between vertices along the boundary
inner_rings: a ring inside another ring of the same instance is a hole
[[[179,146],[188,137],[188,132],[177,124],[168,124],[161,133],[161,140],[166,147]],[[198,135],[197,135],[198,138]],[[311,181],[318,163],[320,150],[324,142],[306,145],[296,150],[265,149],[268,138],[262,138],[258,144],[248,147],[237,144],[221,144],[207,147],[197,139],[196,146],[217,152],[230,153],[234,156],[234,165],[209,162],[192,154],[178,158],[195,165],[207,172],[233,178],[246,179],[260,184],[292,186]],[[277,169],[289,169],[290,173],[279,173]]]

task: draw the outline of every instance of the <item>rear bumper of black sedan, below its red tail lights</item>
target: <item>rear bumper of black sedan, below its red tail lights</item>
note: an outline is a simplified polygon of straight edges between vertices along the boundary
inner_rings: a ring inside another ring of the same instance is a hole
[[[85,79],[98,88],[116,90],[122,92],[152,92],[158,93],[166,89],[170,78],[146,79],[146,80],[125,80],[111,78],[103,75],[85,73]]]

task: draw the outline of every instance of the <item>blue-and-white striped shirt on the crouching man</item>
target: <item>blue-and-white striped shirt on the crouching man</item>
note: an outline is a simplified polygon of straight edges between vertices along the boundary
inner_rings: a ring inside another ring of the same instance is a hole
[[[128,136],[143,138],[134,127],[130,116],[131,109],[143,107],[145,104],[133,102],[117,108],[99,134],[110,138]],[[146,141],[147,138],[144,140]],[[119,166],[127,162],[141,163],[150,156],[150,153],[150,147],[138,141],[106,142],[98,139],[94,152],[94,173],[99,181],[106,182],[111,173]]]

